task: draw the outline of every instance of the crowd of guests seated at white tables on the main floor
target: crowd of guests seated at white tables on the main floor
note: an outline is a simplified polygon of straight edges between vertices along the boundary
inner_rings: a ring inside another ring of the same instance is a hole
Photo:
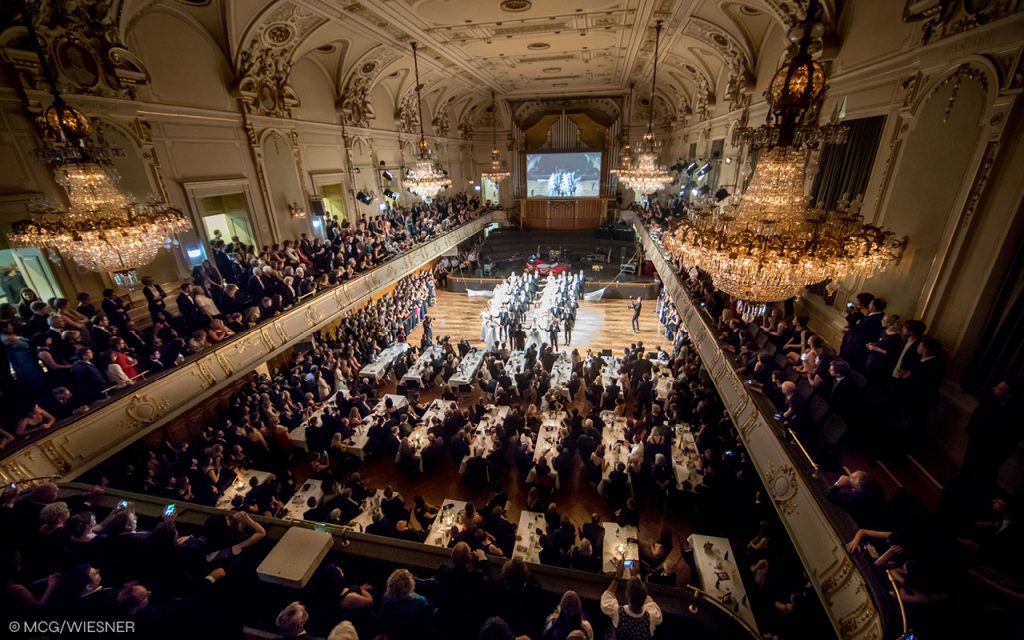
[[[417,303],[409,306],[415,308]],[[502,484],[518,477],[528,487],[521,508],[544,515],[539,561],[601,572],[601,522],[637,526],[642,505],[653,497],[655,505],[671,505],[702,530],[746,544],[743,569],[756,585],[751,602],[763,630],[782,638],[801,637],[799,633],[820,623],[800,562],[714,387],[699,375],[699,359],[685,332],[678,332],[671,354],[660,348],[648,352],[642,343],[624,348],[620,374],[611,379],[603,376],[605,358],[590,350],[573,350],[568,355],[572,373],[564,388],[552,384],[559,354],[551,345],[531,345],[516,366],[510,362],[513,354],[508,349],[496,349],[485,354],[476,380],[477,398],[469,402],[443,384],[445,372],[455,371],[466,350],[442,339],[441,353],[424,377],[425,385],[410,391],[409,406],[399,408],[389,398],[380,399],[376,385],[357,375],[377,349],[408,335],[399,323],[380,331],[375,345],[358,344],[368,340],[368,330],[380,330],[381,323],[395,314],[377,309],[346,318],[338,336],[322,336],[311,352],[294,354],[272,378],[257,378],[240,390],[221,424],[207,426],[190,442],[175,445],[165,440],[154,450],[129,450],[110,460],[94,479],[170,501],[215,505],[220,492],[234,481],[237,470],[264,469],[273,472],[273,479],[253,482],[223,506],[252,515],[288,514],[339,525],[361,521],[366,525],[359,527],[368,534],[427,542],[427,530],[438,517],[437,506],[423,496],[403,497],[391,486],[368,486],[358,471],[351,470],[352,464],[360,464],[348,449],[352,433],[370,425],[364,460],[393,459],[396,470],[420,477],[441,472],[438,469],[451,459],[464,477],[493,489],[494,497],[485,504],[467,504],[462,523],[449,532],[447,546],[453,549],[464,546],[473,556],[504,557],[521,565],[515,557],[517,527],[510,513],[515,507]],[[431,346],[429,338],[423,346]],[[413,347],[398,357],[396,379],[420,352]],[[671,393],[662,397],[653,390],[659,367],[660,375],[673,380]],[[421,398],[438,383],[442,411],[425,422],[430,403]],[[325,404],[331,396],[333,401]],[[386,409],[375,414],[380,404]],[[507,415],[481,430],[484,416],[493,415],[493,404],[508,407]],[[556,441],[555,450],[536,459],[542,424],[560,412],[564,419],[554,436],[548,436]],[[614,418],[627,419],[630,453],[625,463],[612,464],[602,442],[608,421]],[[296,449],[288,436],[303,423],[308,454]],[[692,425],[700,474],[697,481],[682,482],[680,488],[668,457],[677,437],[675,426],[681,423]],[[410,435],[418,428],[425,428],[426,436],[413,444]],[[408,464],[414,456],[422,459],[422,465]],[[586,522],[572,521],[558,506],[558,487],[565,486],[578,470],[594,490],[600,489],[606,503],[603,514],[595,513]],[[302,474],[309,474],[308,480]],[[602,480],[603,476],[607,477]],[[323,497],[296,513],[289,502],[310,481],[319,483]],[[674,550],[680,557],[670,562]],[[695,580],[692,550],[671,529],[642,530],[639,555],[638,577],[644,581],[675,586],[677,580]],[[638,605],[638,610],[642,608]],[[515,628],[514,621],[507,622]]]

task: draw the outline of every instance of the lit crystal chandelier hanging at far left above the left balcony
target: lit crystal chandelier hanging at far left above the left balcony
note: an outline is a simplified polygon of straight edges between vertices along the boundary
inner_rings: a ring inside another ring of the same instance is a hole
[[[120,285],[135,285],[137,269],[152,262],[160,249],[177,245],[174,234],[187,231],[191,224],[181,211],[157,199],[137,203],[118,188],[113,160],[124,153],[101,138],[91,139],[89,119],[63,101],[26,16],[53,94],[53,102],[38,121],[44,144],[33,155],[50,165],[55,181],[68,193],[69,206],[31,206],[29,218],[11,224],[8,240],[14,247],[45,249],[54,260],[59,253],[91,271],[106,271]]]

